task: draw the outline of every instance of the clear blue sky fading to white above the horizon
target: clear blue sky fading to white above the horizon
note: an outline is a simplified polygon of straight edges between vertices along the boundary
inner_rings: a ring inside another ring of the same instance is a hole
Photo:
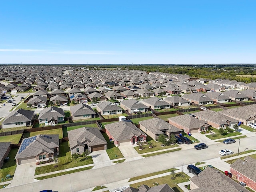
[[[0,63],[256,63],[255,0],[0,2]]]

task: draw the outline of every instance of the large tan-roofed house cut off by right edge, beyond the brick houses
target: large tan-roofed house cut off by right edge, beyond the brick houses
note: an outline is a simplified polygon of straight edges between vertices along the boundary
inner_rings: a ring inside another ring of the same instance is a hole
[[[219,111],[219,113],[229,116],[239,122],[243,122],[244,124],[248,124],[249,122],[254,123],[256,118],[256,104],[222,110]]]

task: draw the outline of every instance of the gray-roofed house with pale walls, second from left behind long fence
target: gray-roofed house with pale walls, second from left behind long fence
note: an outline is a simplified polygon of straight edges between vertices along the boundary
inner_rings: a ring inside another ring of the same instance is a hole
[[[59,122],[64,122],[64,110],[58,107],[50,106],[44,108],[39,116],[38,116],[38,121],[39,124],[42,123],[49,123],[51,124],[58,124]]]

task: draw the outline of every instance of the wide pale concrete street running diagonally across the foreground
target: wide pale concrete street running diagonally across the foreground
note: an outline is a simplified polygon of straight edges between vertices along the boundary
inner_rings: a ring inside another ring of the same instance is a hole
[[[243,150],[256,150],[256,135],[252,134],[251,137],[241,138],[239,151]],[[144,159],[138,159],[130,162],[123,162],[112,166],[106,166],[98,169],[91,169],[73,174],[58,176],[37,182],[24,184],[14,187],[6,187],[0,191],[16,192],[28,191],[38,192],[40,190],[52,189],[59,192],[78,192],[85,191],[86,189],[100,186],[112,182],[120,182],[160,170],[166,170],[173,167],[182,166],[182,164],[192,164],[194,162],[204,162],[211,159],[220,158],[218,151],[222,149],[229,149],[238,152],[238,144],[225,145],[222,142],[209,145],[204,150],[181,150],[171,152],[158,156],[152,156]],[[248,149],[246,149],[248,148]]]

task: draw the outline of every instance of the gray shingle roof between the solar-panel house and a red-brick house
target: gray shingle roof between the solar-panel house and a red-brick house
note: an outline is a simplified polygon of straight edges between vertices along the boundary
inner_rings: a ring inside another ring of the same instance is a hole
[[[78,145],[84,146],[96,146],[101,144],[107,144],[105,138],[100,133],[100,130],[94,127],[82,127],[68,131],[68,140],[70,148],[74,148]]]

